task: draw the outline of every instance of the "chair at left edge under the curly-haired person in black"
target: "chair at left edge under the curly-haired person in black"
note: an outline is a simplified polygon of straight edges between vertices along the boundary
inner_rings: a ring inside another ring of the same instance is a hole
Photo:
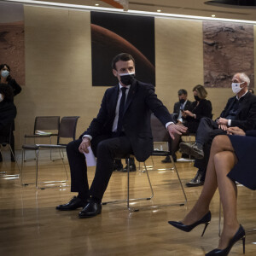
[[[5,127],[3,127],[3,129],[0,131],[0,153],[2,154],[2,147],[9,147],[9,150],[12,154],[13,159],[15,160],[15,163],[18,167],[19,170],[19,174],[15,174],[15,175],[8,175],[8,176],[20,176],[20,167],[19,164],[17,162],[16,156],[15,156],[15,152],[13,150],[13,148],[11,147],[11,137],[12,137],[12,133],[13,133],[13,127],[14,127],[14,121],[11,121],[8,125],[5,125]],[[2,154],[3,157],[3,154]],[[3,161],[4,161],[4,157],[3,157]],[[3,174],[5,177],[7,175],[6,172],[0,172],[0,174]]]

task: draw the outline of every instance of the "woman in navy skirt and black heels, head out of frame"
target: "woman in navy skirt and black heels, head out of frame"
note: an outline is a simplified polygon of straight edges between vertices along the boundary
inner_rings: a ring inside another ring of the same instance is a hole
[[[224,211],[224,228],[218,248],[206,255],[228,255],[231,247],[242,239],[245,249],[245,230],[236,218],[236,182],[256,189],[255,149],[256,130],[246,133],[238,127],[228,128],[229,135],[215,137],[212,143],[207,176],[199,200],[181,222],[169,221],[179,230],[189,232],[199,224],[205,229],[211,221],[209,205],[218,188]]]

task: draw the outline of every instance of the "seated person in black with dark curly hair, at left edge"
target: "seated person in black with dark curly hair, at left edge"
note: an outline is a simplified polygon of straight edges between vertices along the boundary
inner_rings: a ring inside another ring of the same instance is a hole
[[[2,137],[9,135],[9,124],[14,122],[16,113],[13,90],[8,84],[0,84],[0,142]],[[0,162],[2,161],[0,153]]]

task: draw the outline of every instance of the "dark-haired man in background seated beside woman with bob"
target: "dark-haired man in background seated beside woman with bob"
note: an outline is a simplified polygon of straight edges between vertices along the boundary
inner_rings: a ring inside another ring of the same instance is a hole
[[[177,96],[178,96],[178,102],[174,104],[173,107],[173,113],[177,116],[177,121],[182,123],[182,111],[189,109],[191,102],[188,100],[188,92],[187,90],[180,89],[177,91]],[[169,140],[169,146],[170,148],[172,145],[172,139],[170,137]],[[177,160],[176,154],[173,152],[172,154],[173,160]],[[166,159],[162,160],[162,163],[171,163],[171,158],[170,156],[166,156]]]

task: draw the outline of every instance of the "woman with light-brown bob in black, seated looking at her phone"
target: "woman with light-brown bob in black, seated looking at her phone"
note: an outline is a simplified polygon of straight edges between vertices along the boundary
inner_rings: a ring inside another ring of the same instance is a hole
[[[207,117],[212,119],[212,103],[206,99],[207,90],[205,87],[198,84],[192,91],[194,93],[195,102],[191,103],[189,110],[182,111],[182,119],[179,120],[182,120],[183,125],[188,127],[187,134],[197,131],[201,118]],[[181,135],[176,134],[174,140],[171,142],[172,154],[177,152],[180,141]]]

